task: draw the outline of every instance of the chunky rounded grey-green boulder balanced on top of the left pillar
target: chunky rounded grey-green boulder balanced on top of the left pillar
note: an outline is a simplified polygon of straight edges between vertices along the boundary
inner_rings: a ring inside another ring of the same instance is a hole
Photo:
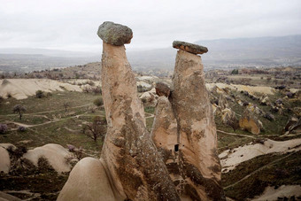
[[[104,21],[104,23],[98,27],[97,35],[105,43],[116,46],[131,43],[131,39],[133,38],[132,29],[124,25],[115,24],[112,21]]]

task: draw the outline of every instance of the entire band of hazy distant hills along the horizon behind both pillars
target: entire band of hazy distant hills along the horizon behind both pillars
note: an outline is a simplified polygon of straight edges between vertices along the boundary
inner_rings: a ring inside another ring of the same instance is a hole
[[[191,43],[191,42],[190,42]],[[248,66],[301,66],[301,35],[235,38],[192,42],[206,46],[202,56],[205,69]],[[176,50],[127,51],[135,70],[173,69]],[[101,60],[94,52],[0,49],[0,71],[33,71],[51,67],[82,65]]]

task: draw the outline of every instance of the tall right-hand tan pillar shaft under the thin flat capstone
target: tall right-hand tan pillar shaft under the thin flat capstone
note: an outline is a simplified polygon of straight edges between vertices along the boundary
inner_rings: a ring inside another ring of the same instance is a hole
[[[180,135],[179,151],[188,195],[197,200],[224,199],[212,106],[199,56],[178,50],[171,102]]]

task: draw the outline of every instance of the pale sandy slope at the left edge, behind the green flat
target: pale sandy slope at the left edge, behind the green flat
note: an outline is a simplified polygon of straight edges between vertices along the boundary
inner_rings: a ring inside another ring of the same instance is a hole
[[[10,93],[16,99],[25,99],[29,96],[34,96],[35,91],[42,90],[45,92],[51,91],[79,91],[80,86],[53,81],[47,79],[5,79],[0,80],[0,96],[6,98]]]

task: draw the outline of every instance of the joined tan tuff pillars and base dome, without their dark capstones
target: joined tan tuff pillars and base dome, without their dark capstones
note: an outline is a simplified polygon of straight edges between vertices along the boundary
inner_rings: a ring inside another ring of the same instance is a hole
[[[108,128],[102,155],[74,166],[58,200],[103,200],[106,192],[107,200],[224,200],[216,128],[199,56],[178,51],[173,85],[173,93],[160,89],[150,135],[125,47],[104,41]]]

